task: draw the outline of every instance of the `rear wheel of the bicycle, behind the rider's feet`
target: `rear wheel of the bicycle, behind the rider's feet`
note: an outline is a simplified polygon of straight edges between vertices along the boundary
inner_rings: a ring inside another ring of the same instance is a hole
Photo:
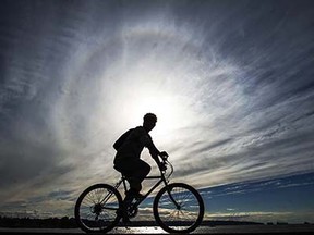
[[[75,203],[77,225],[87,233],[107,233],[120,220],[122,197],[107,184],[96,184],[86,188]]]

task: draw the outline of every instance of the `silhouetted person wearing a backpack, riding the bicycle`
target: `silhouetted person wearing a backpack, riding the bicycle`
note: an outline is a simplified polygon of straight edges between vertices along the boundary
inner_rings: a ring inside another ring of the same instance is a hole
[[[144,115],[143,126],[129,129],[113,145],[117,150],[114,157],[114,169],[125,175],[130,183],[130,189],[126,191],[125,201],[141,197],[142,182],[150,172],[150,165],[141,160],[141,152],[144,147],[149,149],[149,153],[156,163],[166,170],[158,156],[168,157],[166,151],[159,151],[148,134],[156,125],[157,116],[154,113]]]

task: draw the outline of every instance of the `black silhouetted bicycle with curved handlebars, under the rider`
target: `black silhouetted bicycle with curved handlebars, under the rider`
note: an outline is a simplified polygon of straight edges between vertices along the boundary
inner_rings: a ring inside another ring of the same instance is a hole
[[[109,232],[119,224],[123,212],[126,212],[129,218],[136,217],[138,206],[164,183],[165,186],[158,190],[153,202],[153,213],[157,224],[168,233],[193,232],[203,221],[203,199],[198,191],[188,184],[169,183],[173,166],[168,158],[162,158],[161,162],[165,166],[170,166],[170,173],[166,175],[167,170],[158,166],[160,175],[146,176],[145,180],[159,178],[159,181],[144,196],[133,199],[126,209],[118,191],[121,184],[124,193],[128,190],[123,174],[114,186],[95,184],[86,188],[75,203],[74,212],[78,226],[86,233]]]

